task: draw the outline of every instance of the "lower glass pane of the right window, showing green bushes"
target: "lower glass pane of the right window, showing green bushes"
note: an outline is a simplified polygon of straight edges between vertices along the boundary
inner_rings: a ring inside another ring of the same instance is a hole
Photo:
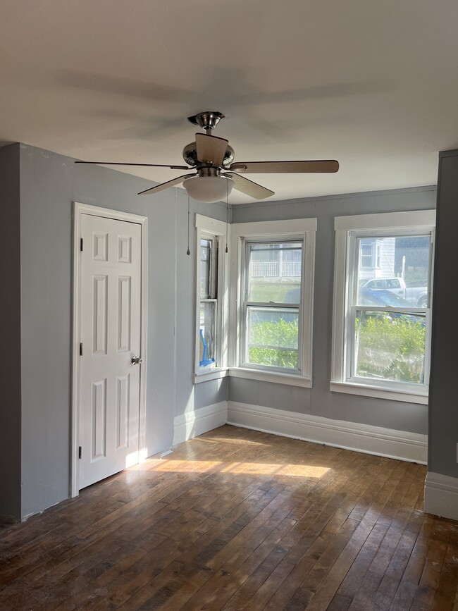
[[[424,383],[425,316],[357,310],[355,375]]]

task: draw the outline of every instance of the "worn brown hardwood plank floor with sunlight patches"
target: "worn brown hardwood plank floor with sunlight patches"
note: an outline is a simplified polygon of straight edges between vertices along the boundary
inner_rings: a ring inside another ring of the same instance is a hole
[[[1,526],[0,609],[458,608],[426,467],[223,426]]]

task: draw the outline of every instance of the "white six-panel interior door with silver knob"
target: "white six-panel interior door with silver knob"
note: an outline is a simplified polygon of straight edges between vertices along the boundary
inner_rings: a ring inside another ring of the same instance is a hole
[[[139,461],[141,226],[82,214],[79,488]]]

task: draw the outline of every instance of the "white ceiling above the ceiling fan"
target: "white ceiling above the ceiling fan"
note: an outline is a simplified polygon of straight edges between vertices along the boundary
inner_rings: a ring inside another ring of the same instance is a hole
[[[181,164],[186,117],[216,110],[236,161],[340,161],[249,175],[271,199],[431,185],[458,148],[457,32],[456,0],[1,0],[0,141]]]

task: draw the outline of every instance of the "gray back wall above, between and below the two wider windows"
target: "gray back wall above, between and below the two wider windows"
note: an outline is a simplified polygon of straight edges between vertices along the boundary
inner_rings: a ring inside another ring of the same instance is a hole
[[[230,378],[229,400],[302,414],[359,422],[413,433],[427,432],[428,407],[414,403],[331,393],[334,218],[352,214],[435,208],[435,187],[352,193],[233,207],[233,222],[316,217],[313,388]]]

